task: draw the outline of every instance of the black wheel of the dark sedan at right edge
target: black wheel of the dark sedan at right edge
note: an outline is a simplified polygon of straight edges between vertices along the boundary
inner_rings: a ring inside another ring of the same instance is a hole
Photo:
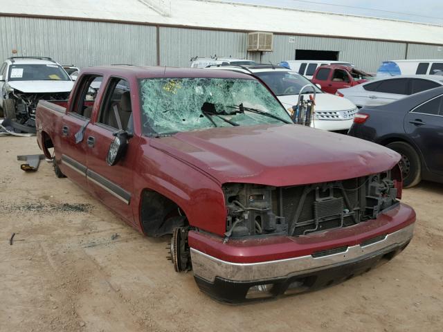
[[[422,181],[422,162],[415,149],[406,142],[392,142],[386,147],[401,155],[399,166],[403,176],[403,187],[418,185]]]

